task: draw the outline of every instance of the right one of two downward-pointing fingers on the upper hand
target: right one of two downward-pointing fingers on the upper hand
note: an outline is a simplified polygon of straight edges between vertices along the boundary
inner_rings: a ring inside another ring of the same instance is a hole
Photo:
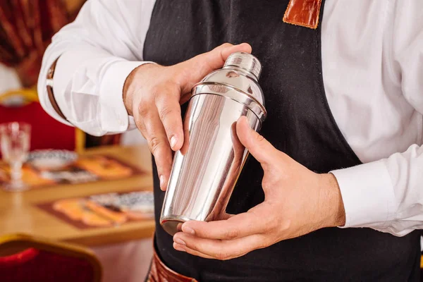
[[[155,102],[161,123],[163,123],[168,143],[173,151],[177,151],[183,145],[183,125],[178,102],[179,89],[159,90],[155,95]]]

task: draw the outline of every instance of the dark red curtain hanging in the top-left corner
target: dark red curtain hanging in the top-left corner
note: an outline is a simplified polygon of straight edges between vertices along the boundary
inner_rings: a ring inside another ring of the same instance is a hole
[[[51,37],[69,20],[63,0],[0,0],[0,62],[34,86]]]

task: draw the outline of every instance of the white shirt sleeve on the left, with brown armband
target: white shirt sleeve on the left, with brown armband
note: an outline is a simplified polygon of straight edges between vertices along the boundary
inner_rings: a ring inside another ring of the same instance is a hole
[[[54,35],[42,61],[39,101],[48,114],[91,135],[135,128],[123,104],[123,84],[142,63],[154,1],[90,0],[73,23]],[[49,102],[46,76],[59,58],[54,97],[68,122]]]

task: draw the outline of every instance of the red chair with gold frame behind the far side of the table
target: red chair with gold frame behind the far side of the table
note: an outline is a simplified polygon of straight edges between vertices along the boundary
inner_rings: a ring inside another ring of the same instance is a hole
[[[1,94],[0,102],[11,97],[23,97],[25,103],[20,106],[0,104],[0,123],[20,121],[29,123],[31,147],[34,149],[68,149],[81,152],[85,146],[85,135],[81,130],[65,125],[51,118],[38,102],[35,90],[23,89]]]

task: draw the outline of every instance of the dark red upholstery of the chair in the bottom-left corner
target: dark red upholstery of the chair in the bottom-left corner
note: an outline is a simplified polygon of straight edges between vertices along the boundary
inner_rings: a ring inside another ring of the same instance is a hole
[[[0,257],[0,280],[8,282],[92,282],[92,264],[78,257],[27,249],[16,255]]]

